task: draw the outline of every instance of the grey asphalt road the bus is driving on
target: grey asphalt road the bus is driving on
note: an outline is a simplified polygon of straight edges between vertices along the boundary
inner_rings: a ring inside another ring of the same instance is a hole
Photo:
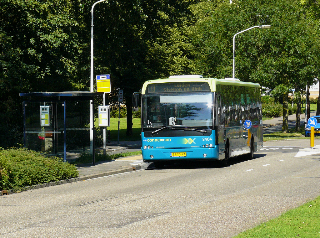
[[[2,196],[0,234],[233,237],[320,195],[320,155],[294,157],[308,143],[265,142],[228,167],[174,164]]]

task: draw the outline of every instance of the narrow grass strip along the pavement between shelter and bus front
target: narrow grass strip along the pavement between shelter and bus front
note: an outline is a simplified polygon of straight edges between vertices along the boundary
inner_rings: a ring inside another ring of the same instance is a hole
[[[96,153],[94,155],[95,162],[99,161],[107,161],[107,160],[116,160],[118,158],[128,157],[128,156],[134,156],[134,155],[141,155],[141,150],[134,151],[134,152],[125,152],[125,153],[118,153],[118,154],[108,154],[104,156],[103,153]],[[72,164],[78,165],[78,164],[89,164],[92,163],[92,155],[90,154],[81,154]]]

